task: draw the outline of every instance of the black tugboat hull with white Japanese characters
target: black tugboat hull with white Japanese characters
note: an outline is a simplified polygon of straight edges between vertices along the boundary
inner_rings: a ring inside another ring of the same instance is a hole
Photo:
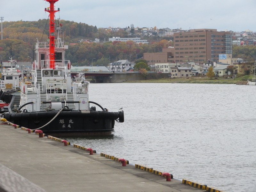
[[[50,122],[59,111],[5,113],[4,118],[28,129],[37,129]],[[78,136],[88,134],[111,134],[115,120],[124,121],[123,111],[61,111],[51,123],[40,128],[46,135]]]

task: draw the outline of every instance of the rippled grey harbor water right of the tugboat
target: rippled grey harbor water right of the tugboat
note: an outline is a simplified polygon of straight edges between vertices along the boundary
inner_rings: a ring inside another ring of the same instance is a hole
[[[65,139],[175,179],[253,191],[255,95],[256,86],[233,84],[90,84],[89,100],[123,108],[124,123],[110,136]]]

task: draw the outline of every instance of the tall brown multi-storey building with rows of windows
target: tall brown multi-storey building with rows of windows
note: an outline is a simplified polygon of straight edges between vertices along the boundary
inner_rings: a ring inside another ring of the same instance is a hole
[[[190,29],[174,33],[175,62],[218,61],[219,54],[232,54],[232,35],[217,29]]]

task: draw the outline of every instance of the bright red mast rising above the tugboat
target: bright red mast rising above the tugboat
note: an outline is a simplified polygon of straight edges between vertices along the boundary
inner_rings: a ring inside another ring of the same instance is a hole
[[[44,0],[47,1],[48,3],[50,3],[50,7],[48,7],[47,9],[45,8],[44,11],[49,12],[50,13],[50,30],[49,30],[49,34],[50,34],[50,42],[49,42],[49,46],[50,46],[50,68],[54,69],[54,60],[55,60],[55,54],[54,54],[54,47],[55,47],[55,40],[54,40],[54,35],[55,35],[55,26],[54,26],[54,15],[55,11],[54,10],[54,4],[59,1],[59,0]]]

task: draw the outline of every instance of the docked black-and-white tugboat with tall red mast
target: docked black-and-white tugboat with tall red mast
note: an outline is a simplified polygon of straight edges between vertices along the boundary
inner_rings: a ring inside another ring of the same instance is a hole
[[[110,134],[115,121],[124,122],[124,112],[109,112],[99,104],[89,101],[90,83],[85,79],[72,82],[69,60],[65,60],[65,49],[60,38],[61,28],[56,26],[54,4],[50,3],[50,31],[48,42],[36,43],[36,60],[31,71],[31,84],[20,83],[20,107],[10,107],[4,118],[28,129],[40,129],[52,136],[76,136],[86,134]],[[56,22],[57,23],[57,22]],[[55,38],[55,36],[57,38]],[[101,108],[97,111],[95,104]]]

